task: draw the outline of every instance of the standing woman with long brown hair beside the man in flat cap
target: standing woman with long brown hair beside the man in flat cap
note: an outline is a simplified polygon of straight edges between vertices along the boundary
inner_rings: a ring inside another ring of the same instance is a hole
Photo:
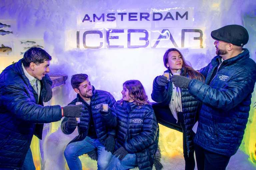
[[[179,74],[204,82],[204,76],[185,61],[178,49],[168,49],[163,60],[167,68],[165,73],[168,73],[169,77]],[[166,76],[161,75],[154,79],[151,97],[157,102],[153,104],[153,109],[158,123],[183,132],[185,170],[193,170],[195,159],[192,127],[199,102],[189,94],[187,89],[175,87]]]

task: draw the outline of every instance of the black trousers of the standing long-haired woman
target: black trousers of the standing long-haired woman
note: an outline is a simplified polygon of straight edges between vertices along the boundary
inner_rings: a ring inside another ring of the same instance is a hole
[[[173,117],[169,106],[163,107],[158,104],[152,105],[157,121],[168,127],[180,132],[185,131],[185,124],[183,119],[183,113],[178,113],[178,123],[177,120]],[[187,140],[186,140],[186,133],[183,133],[183,156],[185,159],[185,170],[194,170],[195,169],[195,158],[194,158],[194,151],[188,153],[187,148]]]

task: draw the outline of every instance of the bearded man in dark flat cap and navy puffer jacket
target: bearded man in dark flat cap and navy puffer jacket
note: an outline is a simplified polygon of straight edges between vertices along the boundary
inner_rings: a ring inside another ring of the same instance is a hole
[[[212,31],[216,54],[211,63],[200,69],[205,84],[196,79],[173,75],[176,87],[186,88],[202,103],[194,147],[198,170],[225,170],[243,139],[256,81],[256,63],[243,48],[247,30],[228,25]]]

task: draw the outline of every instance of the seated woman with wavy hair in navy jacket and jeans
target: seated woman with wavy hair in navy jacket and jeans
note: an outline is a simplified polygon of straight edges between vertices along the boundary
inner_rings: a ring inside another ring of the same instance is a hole
[[[124,82],[121,93],[122,99],[111,109],[100,111],[105,125],[117,129],[114,153],[105,170],[151,170],[159,137],[154,110],[140,81]]]

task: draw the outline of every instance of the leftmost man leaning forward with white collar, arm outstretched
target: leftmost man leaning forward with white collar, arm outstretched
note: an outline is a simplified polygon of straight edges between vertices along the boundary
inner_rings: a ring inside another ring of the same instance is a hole
[[[32,47],[0,74],[0,169],[35,170],[30,143],[42,139],[44,123],[80,117],[83,105],[43,106],[52,98],[52,57]]]

